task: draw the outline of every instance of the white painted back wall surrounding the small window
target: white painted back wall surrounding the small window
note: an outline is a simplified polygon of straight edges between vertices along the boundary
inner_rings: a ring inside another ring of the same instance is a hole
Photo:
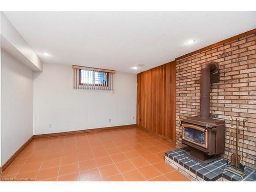
[[[136,91],[136,74],[119,72],[114,94],[75,90],[71,66],[44,63],[34,72],[34,135],[136,124]]]

